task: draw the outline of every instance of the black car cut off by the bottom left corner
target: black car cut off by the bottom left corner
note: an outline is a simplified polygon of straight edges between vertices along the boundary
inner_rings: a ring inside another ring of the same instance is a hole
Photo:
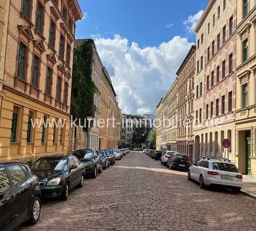
[[[0,163],[0,230],[38,222],[41,192],[38,178],[23,163]]]

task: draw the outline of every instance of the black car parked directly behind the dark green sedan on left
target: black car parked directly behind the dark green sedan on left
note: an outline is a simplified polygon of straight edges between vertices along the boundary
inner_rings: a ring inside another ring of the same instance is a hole
[[[80,149],[72,152],[72,155],[79,158],[85,166],[85,175],[90,175],[93,178],[97,177],[98,173],[102,172],[101,159],[96,150]]]

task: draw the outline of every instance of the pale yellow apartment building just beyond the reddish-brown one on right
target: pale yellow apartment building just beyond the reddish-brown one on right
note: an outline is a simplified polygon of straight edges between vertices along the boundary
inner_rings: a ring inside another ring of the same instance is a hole
[[[162,150],[177,151],[177,80],[162,100]]]

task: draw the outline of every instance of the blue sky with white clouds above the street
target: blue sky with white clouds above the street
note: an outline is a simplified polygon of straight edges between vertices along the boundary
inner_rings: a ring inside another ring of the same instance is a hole
[[[79,0],[76,38],[95,40],[122,113],[156,114],[209,0]]]

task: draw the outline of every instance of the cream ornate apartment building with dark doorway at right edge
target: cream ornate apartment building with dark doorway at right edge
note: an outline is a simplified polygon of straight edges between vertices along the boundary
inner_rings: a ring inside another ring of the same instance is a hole
[[[256,177],[256,5],[237,1],[236,164]]]

